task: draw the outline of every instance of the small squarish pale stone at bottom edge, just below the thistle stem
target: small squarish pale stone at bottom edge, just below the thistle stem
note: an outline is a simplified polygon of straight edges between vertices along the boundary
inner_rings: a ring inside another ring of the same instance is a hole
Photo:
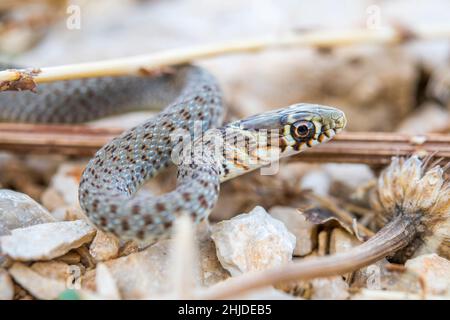
[[[350,296],[348,284],[340,276],[313,279],[311,285],[312,300],[343,300]]]

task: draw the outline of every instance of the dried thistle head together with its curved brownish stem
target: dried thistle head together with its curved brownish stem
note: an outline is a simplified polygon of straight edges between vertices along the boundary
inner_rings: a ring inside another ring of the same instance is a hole
[[[444,171],[444,168],[428,165],[427,161],[423,162],[416,156],[393,159],[380,175],[374,190],[377,201],[373,203],[378,204],[375,206],[377,215],[385,217],[385,225],[368,241],[329,256],[235,276],[226,284],[218,284],[207,292],[214,298],[231,297],[269,284],[346,274],[369,266],[383,257],[396,261],[398,254],[405,252],[405,248],[408,254],[424,251],[424,247],[436,250],[445,245],[443,240],[448,238],[449,231],[450,188]],[[414,178],[410,179],[411,176]],[[423,235],[430,236],[432,233],[436,237],[431,237],[433,246],[430,246],[430,243],[426,243],[428,238]],[[325,230],[319,233],[319,255],[330,251],[323,245],[329,237],[327,234]],[[412,246],[416,239],[421,239],[426,245]]]

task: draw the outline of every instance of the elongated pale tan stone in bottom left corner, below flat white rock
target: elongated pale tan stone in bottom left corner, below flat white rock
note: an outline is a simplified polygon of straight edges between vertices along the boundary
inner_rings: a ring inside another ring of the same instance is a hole
[[[44,277],[20,262],[14,263],[9,273],[18,284],[38,299],[56,299],[66,289],[64,281]]]

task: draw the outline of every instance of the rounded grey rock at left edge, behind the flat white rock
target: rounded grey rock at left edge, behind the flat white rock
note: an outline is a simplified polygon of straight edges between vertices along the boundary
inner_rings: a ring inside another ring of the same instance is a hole
[[[0,235],[13,229],[54,221],[47,209],[26,194],[0,190]]]

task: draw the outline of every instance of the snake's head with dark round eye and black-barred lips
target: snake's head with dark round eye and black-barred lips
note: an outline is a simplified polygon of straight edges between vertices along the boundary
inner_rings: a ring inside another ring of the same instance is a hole
[[[339,109],[300,103],[249,117],[236,125],[254,136],[268,132],[270,139],[278,142],[280,157],[284,157],[330,140],[346,123]],[[273,147],[273,143],[269,145]]]

